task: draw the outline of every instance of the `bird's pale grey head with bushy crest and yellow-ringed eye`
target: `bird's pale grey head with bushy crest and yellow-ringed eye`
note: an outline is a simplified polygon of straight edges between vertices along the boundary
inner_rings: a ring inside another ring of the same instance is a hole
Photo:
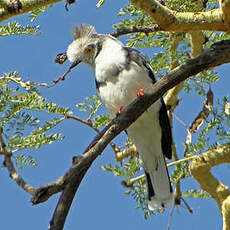
[[[80,62],[94,66],[94,61],[101,47],[100,35],[93,26],[81,24],[73,29],[74,41],[67,49],[67,57],[76,66]]]

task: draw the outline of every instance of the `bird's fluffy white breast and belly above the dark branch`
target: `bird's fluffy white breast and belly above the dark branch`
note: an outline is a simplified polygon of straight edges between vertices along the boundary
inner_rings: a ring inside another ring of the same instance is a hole
[[[153,87],[148,70],[134,61],[127,65],[126,55],[120,43],[109,41],[103,45],[95,62],[96,80],[105,82],[99,88],[99,95],[112,117],[121,107],[130,104],[140,89],[149,93]]]

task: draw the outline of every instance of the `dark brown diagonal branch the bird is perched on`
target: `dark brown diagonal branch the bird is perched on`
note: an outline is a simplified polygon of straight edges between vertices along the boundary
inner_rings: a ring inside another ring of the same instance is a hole
[[[230,62],[230,40],[215,43],[200,56],[188,60],[186,64],[174,69],[160,79],[154,84],[151,94],[144,94],[138,97],[129,106],[124,108],[123,111],[102,131],[102,133],[91,142],[84,154],[80,158],[77,158],[77,161],[73,162],[70,170],[62,178],[59,178],[64,185],[64,190],[55,209],[50,224],[50,230],[62,229],[65,217],[67,216],[71,202],[81,180],[93,161],[102,153],[115,136],[124,129],[127,129],[129,125],[131,125],[149,106],[151,106],[170,88],[203,70],[228,62]],[[45,188],[45,186],[43,187]],[[41,197],[40,199],[36,199],[36,196],[37,193],[32,200],[37,200],[36,203],[42,202]],[[58,225],[56,223],[58,223]]]

